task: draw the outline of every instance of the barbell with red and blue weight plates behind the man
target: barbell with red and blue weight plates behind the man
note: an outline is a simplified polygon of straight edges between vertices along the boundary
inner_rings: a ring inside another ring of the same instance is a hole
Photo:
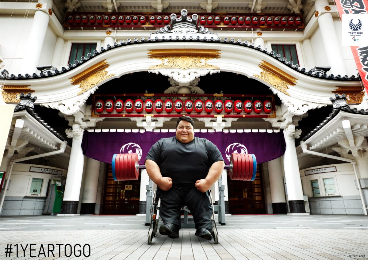
[[[118,153],[113,155],[112,175],[115,181],[137,180],[139,169],[145,165],[138,164],[136,153]],[[257,160],[254,154],[232,153],[230,165],[224,169],[230,170],[230,179],[234,181],[254,181],[257,173]]]

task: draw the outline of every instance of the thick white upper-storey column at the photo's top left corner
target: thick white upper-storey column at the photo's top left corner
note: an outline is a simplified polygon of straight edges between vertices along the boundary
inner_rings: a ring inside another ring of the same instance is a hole
[[[46,3],[46,6],[52,8],[52,0],[39,1],[42,4]],[[50,15],[45,11],[38,10],[33,17],[31,31],[29,32],[29,38],[27,47],[24,51],[24,57],[22,60],[21,74],[32,74],[37,72],[36,66],[38,65],[50,65],[50,64],[38,64],[42,52],[43,42],[45,41],[47,26],[49,25]]]

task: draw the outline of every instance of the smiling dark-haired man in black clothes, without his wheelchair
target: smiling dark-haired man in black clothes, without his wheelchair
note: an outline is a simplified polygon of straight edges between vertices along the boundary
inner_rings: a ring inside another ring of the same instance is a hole
[[[179,238],[184,204],[193,216],[195,235],[211,240],[213,211],[208,190],[220,178],[225,163],[212,142],[194,137],[191,117],[180,117],[176,136],[162,138],[151,147],[145,165],[161,199],[160,216],[164,224],[160,226],[160,234]]]

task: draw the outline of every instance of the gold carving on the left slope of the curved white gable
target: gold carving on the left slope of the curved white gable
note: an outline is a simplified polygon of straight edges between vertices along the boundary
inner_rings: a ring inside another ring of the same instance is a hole
[[[109,64],[107,64],[106,60],[103,60],[93,65],[92,67],[82,71],[78,75],[70,78],[72,84],[79,85],[79,88],[81,89],[78,95],[92,88],[103,80],[114,76],[114,74],[107,74],[107,67],[109,67]]]

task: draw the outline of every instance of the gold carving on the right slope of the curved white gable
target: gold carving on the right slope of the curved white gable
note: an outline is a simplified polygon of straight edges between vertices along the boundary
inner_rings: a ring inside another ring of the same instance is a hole
[[[262,69],[260,75],[254,76],[271,84],[273,87],[280,90],[286,95],[289,95],[289,93],[287,92],[289,86],[295,86],[295,83],[297,83],[298,79],[294,78],[293,76],[287,74],[286,72],[280,70],[276,66],[264,60],[262,60],[262,63],[259,64],[259,68]]]

